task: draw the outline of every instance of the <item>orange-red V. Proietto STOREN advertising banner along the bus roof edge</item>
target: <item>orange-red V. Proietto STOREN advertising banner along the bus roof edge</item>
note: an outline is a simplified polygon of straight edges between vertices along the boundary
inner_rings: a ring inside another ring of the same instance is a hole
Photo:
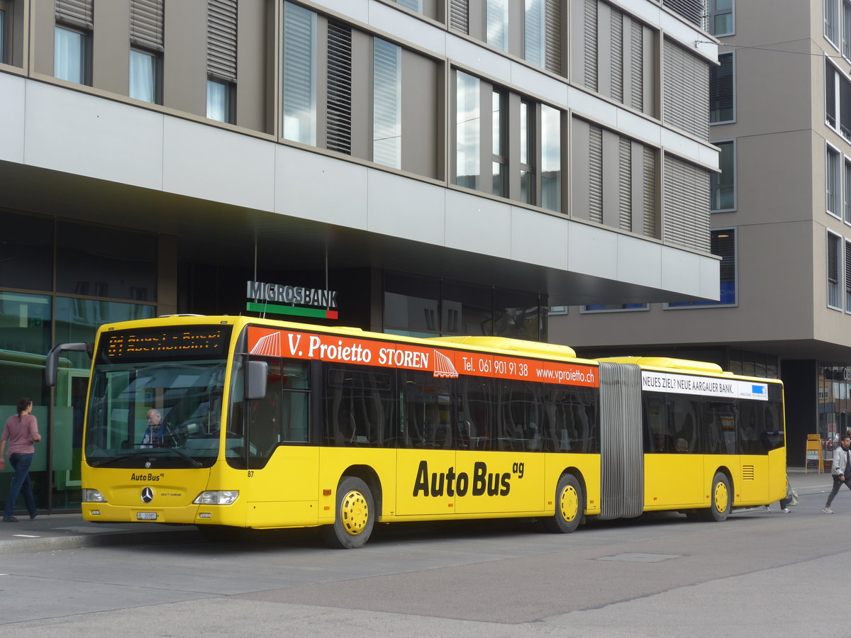
[[[465,374],[586,387],[597,387],[599,383],[594,366],[277,328],[249,327],[248,351],[260,356],[421,370],[435,377],[456,378]]]

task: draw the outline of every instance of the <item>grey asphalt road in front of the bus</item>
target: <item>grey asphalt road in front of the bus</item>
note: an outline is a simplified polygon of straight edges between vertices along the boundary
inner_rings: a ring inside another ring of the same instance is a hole
[[[0,557],[0,635],[848,636],[851,494],[834,516],[823,504],[568,535],[397,525],[347,551],[294,531],[15,553]]]

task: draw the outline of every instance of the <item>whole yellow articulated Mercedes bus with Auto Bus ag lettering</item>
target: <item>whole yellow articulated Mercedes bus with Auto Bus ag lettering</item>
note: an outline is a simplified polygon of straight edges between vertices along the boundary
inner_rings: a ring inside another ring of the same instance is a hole
[[[785,495],[783,386],[714,364],[580,359],[516,339],[412,339],[235,316],[108,324],[92,344],[83,517],[321,527],[677,510]]]

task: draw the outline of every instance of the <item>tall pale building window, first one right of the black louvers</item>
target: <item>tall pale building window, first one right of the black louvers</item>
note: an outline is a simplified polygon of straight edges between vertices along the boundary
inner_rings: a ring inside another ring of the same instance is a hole
[[[374,38],[373,161],[402,168],[402,49]]]

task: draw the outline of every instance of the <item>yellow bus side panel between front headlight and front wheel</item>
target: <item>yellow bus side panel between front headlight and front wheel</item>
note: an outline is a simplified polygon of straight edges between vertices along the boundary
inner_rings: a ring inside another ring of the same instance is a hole
[[[248,527],[316,525],[319,450],[278,446],[259,470],[248,470]]]

